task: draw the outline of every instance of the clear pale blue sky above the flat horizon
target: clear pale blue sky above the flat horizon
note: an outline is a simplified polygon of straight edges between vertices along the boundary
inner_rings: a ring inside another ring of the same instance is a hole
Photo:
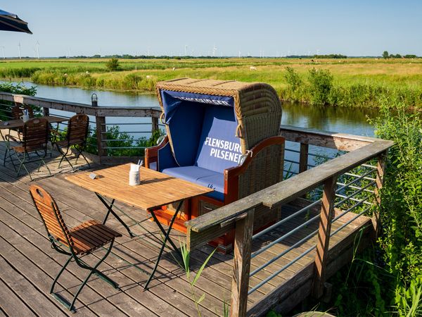
[[[6,56],[422,55],[422,1],[1,1],[34,35],[0,31]],[[186,48],[187,46],[187,48]],[[0,51],[0,57],[2,52]]]

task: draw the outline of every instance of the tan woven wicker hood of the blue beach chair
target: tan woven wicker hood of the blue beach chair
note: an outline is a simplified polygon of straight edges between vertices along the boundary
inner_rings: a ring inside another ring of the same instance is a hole
[[[255,82],[223,80],[197,80],[180,78],[157,83],[158,99],[163,110],[160,92],[188,92],[214,96],[232,97],[238,121],[238,135],[243,154],[268,137],[279,135],[281,125],[281,102],[270,85]],[[167,128],[167,135],[171,134]]]

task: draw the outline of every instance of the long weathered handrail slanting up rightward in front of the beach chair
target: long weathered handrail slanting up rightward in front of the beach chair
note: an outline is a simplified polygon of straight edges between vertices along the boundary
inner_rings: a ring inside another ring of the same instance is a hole
[[[215,211],[205,213],[198,218],[186,221],[185,225],[188,228],[188,234],[190,231],[198,233],[205,231],[211,232],[213,231],[213,228],[217,230],[221,227],[226,227],[226,230],[228,231],[232,228],[230,224],[234,223],[239,218],[242,218],[248,210],[254,209],[260,205],[275,208],[287,204],[289,201],[301,197],[306,192],[309,192],[309,190],[323,184],[328,178],[341,175],[347,172],[347,170],[351,170],[352,168],[373,159],[394,144],[394,142],[384,139],[373,140],[374,141],[371,144],[367,144],[360,149],[339,156],[326,163],[322,163],[315,168],[306,170],[292,178],[288,178],[288,180],[283,180],[283,182],[262,189],[260,192],[255,192],[248,197],[222,206]],[[221,234],[222,231],[219,230],[217,235]],[[202,242],[193,244],[191,247],[198,247],[200,244],[202,244]]]

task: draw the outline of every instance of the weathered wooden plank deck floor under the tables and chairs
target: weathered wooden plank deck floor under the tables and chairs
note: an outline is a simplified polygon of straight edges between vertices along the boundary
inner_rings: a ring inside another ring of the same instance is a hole
[[[0,156],[3,155],[4,142],[0,141]],[[44,226],[32,204],[28,192],[29,185],[37,183],[55,197],[69,226],[77,225],[89,218],[102,220],[105,215],[104,206],[95,194],[66,181],[64,175],[70,173],[71,170],[58,169],[57,162],[54,157],[49,161],[53,177],[45,178],[48,174],[41,168],[39,173],[34,173],[34,178],[38,180],[33,182],[26,175],[16,177],[10,164],[6,164],[6,167],[0,166],[0,312],[6,316],[70,315],[49,295],[53,278],[66,256],[51,249]],[[93,168],[96,169],[99,166],[93,166]],[[153,261],[158,256],[159,243],[153,235],[158,234],[158,228],[148,219],[145,211],[124,204],[117,204],[117,206],[141,223],[141,227],[132,228],[139,237],[131,239],[127,231],[115,219],[110,217],[108,221],[108,225],[122,232],[123,237],[116,240],[113,254],[110,254],[105,263],[101,264],[100,270],[118,282],[121,290],[114,290],[102,280],[92,277],[78,297],[75,315],[198,316],[185,273],[170,253],[166,253],[160,261],[150,289],[143,292],[143,284],[148,275],[142,270],[150,272]],[[283,216],[297,209],[298,207],[286,206],[282,210]],[[288,232],[297,227],[309,216],[312,216],[312,213],[293,218],[281,225],[276,234],[266,235],[256,241],[252,249],[258,249],[262,244],[274,240],[274,237],[279,237],[280,231]],[[332,232],[347,221],[346,217],[333,223]],[[123,218],[128,223],[132,221],[129,218]],[[370,219],[362,216],[333,235],[330,242],[328,274],[332,275],[347,261],[354,244],[354,235],[369,223]],[[316,228],[318,228],[317,221],[264,251],[252,259],[251,271],[288,249]],[[184,240],[184,235],[173,232],[174,241]],[[316,237],[289,251],[281,259],[267,266],[264,271],[254,275],[250,279],[250,286],[257,285],[315,244]],[[200,267],[211,251],[212,248],[206,246],[192,252],[193,271]],[[94,254],[97,257],[100,255]],[[248,306],[260,302],[264,295],[282,285],[286,290],[286,300],[282,302],[285,306],[284,310],[293,308],[310,293],[314,256],[315,251],[310,252],[269,283],[250,294]],[[69,271],[63,273],[60,278],[58,287],[61,287],[60,291],[64,297],[70,298],[70,292],[77,290],[86,272],[72,264],[68,268]],[[212,256],[196,288],[198,297],[205,293],[205,299],[200,303],[203,316],[223,315],[224,302],[226,304],[230,302],[232,272],[232,255],[214,254]]]

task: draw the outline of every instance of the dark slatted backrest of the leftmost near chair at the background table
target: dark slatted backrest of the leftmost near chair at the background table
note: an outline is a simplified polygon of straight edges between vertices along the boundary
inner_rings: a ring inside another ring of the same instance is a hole
[[[49,142],[49,121],[33,118],[23,125],[22,143],[25,151],[46,150]]]

